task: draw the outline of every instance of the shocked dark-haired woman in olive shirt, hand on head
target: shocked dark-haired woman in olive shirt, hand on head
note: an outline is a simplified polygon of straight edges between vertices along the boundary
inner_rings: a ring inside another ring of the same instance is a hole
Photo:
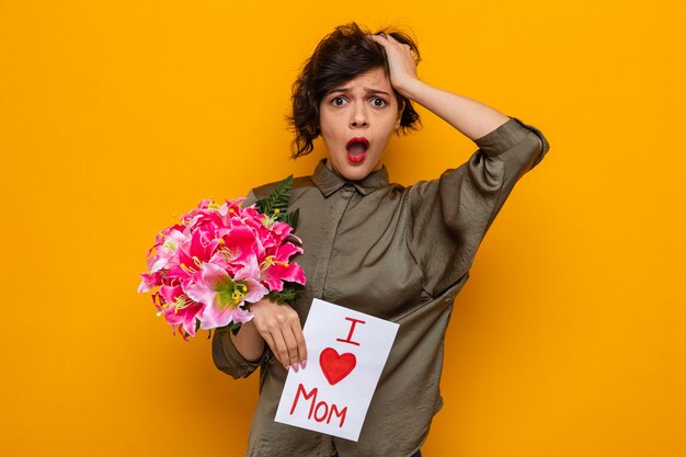
[[[536,128],[416,77],[419,50],[398,33],[356,24],[324,37],[294,84],[294,156],[323,138],[328,159],[294,183],[298,258],[308,278],[294,305],[262,300],[237,335],[215,333],[213,355],[238,378],[261,367],[249,456],[419,456],[438,391],[453,301],[485,231],[516,181],[548,150]],[[389,184],[390,135],[411,129],[419,103],[472,139],[461,167],[410,187]],[[251,192],[267,195],[273,184]],[[313,298],[400,324],[358,442],[274,422],[288,369],[307,369],[301,323]]]

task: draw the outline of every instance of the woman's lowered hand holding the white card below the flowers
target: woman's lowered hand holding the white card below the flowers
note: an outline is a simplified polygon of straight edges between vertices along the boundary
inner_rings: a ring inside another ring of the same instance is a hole
[[[263,298],[250,305],[252,322],[276,358],[288,369],[305,368],[307,347],[298,313],[288,305]]]

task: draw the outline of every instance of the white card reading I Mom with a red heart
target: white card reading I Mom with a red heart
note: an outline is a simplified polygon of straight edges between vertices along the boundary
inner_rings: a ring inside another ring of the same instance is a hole
[[[275,421],[357,441],[398,327],[316,298],[307,366],[289,370]]]

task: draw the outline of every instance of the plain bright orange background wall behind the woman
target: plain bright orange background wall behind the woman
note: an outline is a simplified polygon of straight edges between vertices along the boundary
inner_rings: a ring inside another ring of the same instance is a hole
[[[425,455],[686,455],[685,19],[676,0],[1,1],[0,455],[243,455],[256,376],[172,338],[138,274],[173,215],[310,173],[320,142],[288,159],[290,83],[351,20],[411,27],[425,81],[552,147],[456,301]],[[396,182],[475,150],[422,114],[390,145]]]

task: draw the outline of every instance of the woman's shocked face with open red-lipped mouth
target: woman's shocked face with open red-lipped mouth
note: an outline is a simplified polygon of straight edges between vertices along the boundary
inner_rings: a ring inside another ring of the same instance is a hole
[[[379,170],[400,116],[393,88],[380,67],[331,90],[319,106],[319,128],[329,151],[327,165],[351,181]]]

